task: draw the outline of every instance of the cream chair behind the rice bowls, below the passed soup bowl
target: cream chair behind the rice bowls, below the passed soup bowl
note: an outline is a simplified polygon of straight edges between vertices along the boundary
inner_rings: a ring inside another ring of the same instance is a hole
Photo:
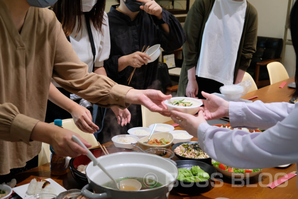
[[[164,123],[172,120],[170,117],[161,115],[158,112],[151,112],[149,109],[141,105],[143,127],[149,127],[150,124]]]

